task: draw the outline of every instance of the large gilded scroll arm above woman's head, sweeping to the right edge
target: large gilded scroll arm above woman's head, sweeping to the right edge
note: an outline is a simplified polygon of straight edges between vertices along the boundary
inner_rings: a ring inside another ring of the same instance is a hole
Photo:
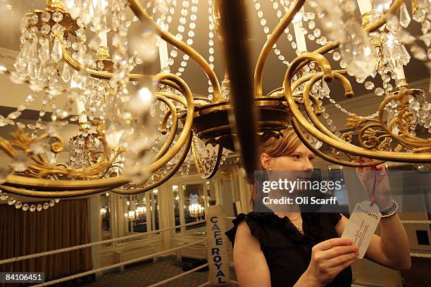
[[[316,139],[323,141],[323,143],[336,148],[339,151],[344,151],[346,153],[352,153],[354,155],[359,155],[368,158],[377,158],[380,160],[396,160],[401,162],[430,162],[431,161],[431,153],[401,153],[396,151],[373,151],[368,150],[366,148],[360,148],[358,146],[354,146],[353,144],[348,144],[345,141],[341,141],[339,139],[335,139],[327,134],[324,134],[320,129],[317,129],[312,125],[304,115],[302,115],[299,108],[296,106],[294,101],[293,91],[292,91],[292,77],[296,68],[300,65],[303,65],[304,62],[308,60],[314,60],[323,68],[323,79],[328,80],[332,79],[334,75],[330,70],[330,65],[328,61],[318,53],[304,53],[297,58],[295,58],[289,68],[287,68],[287,72],[285,75],[285,80],[283,82],[283,88],[285,91],[286,101],[289,105],[290,110],[292,111],[295,119],[299,122],[299,124],[306,129],[308,133],[312,136],[316,137]]]

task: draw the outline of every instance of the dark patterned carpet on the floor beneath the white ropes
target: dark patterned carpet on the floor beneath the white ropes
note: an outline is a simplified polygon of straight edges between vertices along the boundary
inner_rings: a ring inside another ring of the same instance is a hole
[[[123,273],[114,272],[111,274],[105,274],[94,282],[82,285],[85,287],[132,287],[132,286],[150,286],[151,284],[163,281],[177,274],[181,274],[182,264],[174,259],[166,258],[164,260],[158,260],[155,263],[142,264],[137,267],[130,267],[125,269]],[[230,279],[236,281],[236,275],[234,271],[230,272]],[[208,271],[206,272],[194,272],[188,274],[181,279],[171,281],[163,285],[163,287],[192,287],[199,286],[208,281]],[[231,284],[231,286],[237,286]]]

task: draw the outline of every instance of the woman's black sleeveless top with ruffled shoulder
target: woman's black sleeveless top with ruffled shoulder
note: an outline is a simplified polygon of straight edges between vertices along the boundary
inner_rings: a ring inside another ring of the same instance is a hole
[[[269,209],[268,209],[269,210]],[[311,248],[317,243],[339,237],[335,225],[341,219],[339,213],[301,213],[304,235],[288,217],[278,217],[269,212],[241,213],[232,223],[234,227],[225,234],[235,243],[239,222],[245,220],[251,235],[256,237],[270,270],[271,286],[294,286],[306,271],[311,260]],[[340,272],[326,286],[351,286],[351,267]]]

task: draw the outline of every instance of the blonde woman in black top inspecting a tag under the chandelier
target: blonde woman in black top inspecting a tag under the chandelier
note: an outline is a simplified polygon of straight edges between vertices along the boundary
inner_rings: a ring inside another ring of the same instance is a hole
[[[314,157],[292,128],[261,145],[262,170],[311,172]],[[369,169],[358,172],[365,174]],[[377,170],[384,167],[377,166]],[[360,179],[365,185],[369,182]],[[406,231],[396,214],[387,175],[380,181],[375,203],[382,215],[389,216],[380,219],[381,236],[373,235],[365,257],[392,269],[408,269],[411,258]],[[254,194],[251,201],[259,196]],[[234,248],[239,286],[351,286],[350,265],[358,257],[358,247],[340,238],[349,222],[344,215],[268,209],[240,214],[232,222],[234,227],[226,235]]]

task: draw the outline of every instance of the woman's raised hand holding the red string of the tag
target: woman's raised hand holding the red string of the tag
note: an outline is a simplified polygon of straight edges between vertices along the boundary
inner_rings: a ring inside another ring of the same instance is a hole
[[[375,186],[375,203],[380,210],[385,210],[392,206],[391,189],[385,165],[356,168],[356,174],[369,196],[372,196],[373,186]]]

